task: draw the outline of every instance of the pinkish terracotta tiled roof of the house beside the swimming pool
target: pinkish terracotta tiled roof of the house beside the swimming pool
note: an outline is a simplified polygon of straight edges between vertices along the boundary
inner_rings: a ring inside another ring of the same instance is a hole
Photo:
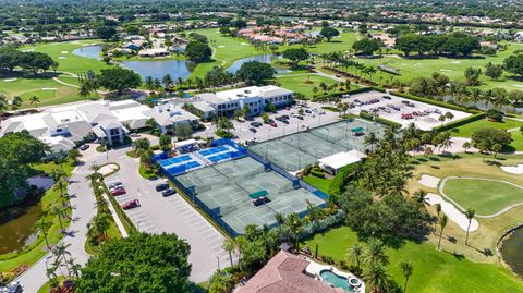
[[[305,274],[308,264],[308,260],[280,251],[234,293],[346,293]]]

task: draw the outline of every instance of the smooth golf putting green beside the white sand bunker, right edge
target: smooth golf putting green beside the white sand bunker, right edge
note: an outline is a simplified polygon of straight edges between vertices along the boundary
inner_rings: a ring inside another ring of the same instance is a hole
[[[523,202],[523,187],[500,181],[448,179],[443,193],[463,208],[487,216]]]

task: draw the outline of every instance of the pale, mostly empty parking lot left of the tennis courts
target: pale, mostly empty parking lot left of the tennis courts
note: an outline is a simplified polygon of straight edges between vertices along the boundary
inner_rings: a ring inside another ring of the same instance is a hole
[[[188,261],[193,269],[191,280],[208,280],[218,267],[230,264],[229,254],[221,248],[224,236],[216,230],[179,194],[167,197],[156,191],[163,181],[147,181],[138,174],[138,161],[126,156],[119,158],[121,170],[106,180],[106,184],[121,182],[125,194],[114,196],[120,205],[139,200],[139,207],[125,210],[141,232],[175,233],[191,245]]]

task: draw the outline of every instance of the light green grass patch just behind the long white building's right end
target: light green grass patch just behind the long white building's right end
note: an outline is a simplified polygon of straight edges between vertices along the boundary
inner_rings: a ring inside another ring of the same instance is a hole
[[[311,81],[312,83],[309,84],[305,83],[307,81]],[[335,80],[316,75],[314,73],[301,74],[301,75],[297,75],[297,74],[282,75],[277,78],[277,82],[279,82],[281,86],[284,88],[288,88],[297,93],[302,93],[308,99],[311,99],[314,95],[313,93],[314,87],[318,88],[318,93],[321,91],[321,89],[319,88],[320,83],[325,83],[327,85],[331,85],[336,83]]]

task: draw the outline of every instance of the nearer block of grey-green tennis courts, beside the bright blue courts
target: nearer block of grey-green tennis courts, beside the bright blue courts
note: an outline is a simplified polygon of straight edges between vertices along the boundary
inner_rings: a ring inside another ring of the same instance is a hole
[[[194,170],[177,180],[186,188],[194,186],[195,196],[238,234],[243,234],[247,224],[277,224],[277,212],[306,212],[307,200],[316,206],[325,204],[251,157]],[[250,195],[257,193],[268,203],[254,205]]]

